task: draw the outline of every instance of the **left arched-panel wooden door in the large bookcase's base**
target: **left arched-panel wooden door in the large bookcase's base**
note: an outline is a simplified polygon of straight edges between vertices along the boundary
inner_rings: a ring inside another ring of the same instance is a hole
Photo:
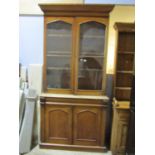
[[[46,105],[45,141],[56,144],[72,143],[72,109],[70,107]]]

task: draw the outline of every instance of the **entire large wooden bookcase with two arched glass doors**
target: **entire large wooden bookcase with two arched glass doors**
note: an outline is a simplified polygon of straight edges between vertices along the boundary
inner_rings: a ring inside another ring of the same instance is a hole
[[[41,147],[105,149],[106,47],[113,7],[40,5],[44,12]]]

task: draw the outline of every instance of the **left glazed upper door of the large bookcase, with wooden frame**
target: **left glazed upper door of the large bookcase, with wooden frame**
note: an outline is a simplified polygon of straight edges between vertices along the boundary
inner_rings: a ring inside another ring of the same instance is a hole
[[[73,18],[45,17],[44,86],[47,92],[73,87]]]

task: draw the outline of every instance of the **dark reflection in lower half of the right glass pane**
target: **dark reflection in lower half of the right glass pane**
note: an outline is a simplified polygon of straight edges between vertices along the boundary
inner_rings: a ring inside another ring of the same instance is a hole
[[[99,60],[97,61],[94,58],[88,57],[80,58],[78,88],[86,90],[100,90],[102,88],[102,74],[102,65],[99,63]]]

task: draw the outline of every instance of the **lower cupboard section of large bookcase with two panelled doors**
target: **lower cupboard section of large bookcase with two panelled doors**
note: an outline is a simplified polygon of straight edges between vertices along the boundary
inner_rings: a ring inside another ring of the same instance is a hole
[[[41,97],[41,148],[106,151],[107,101]]]

